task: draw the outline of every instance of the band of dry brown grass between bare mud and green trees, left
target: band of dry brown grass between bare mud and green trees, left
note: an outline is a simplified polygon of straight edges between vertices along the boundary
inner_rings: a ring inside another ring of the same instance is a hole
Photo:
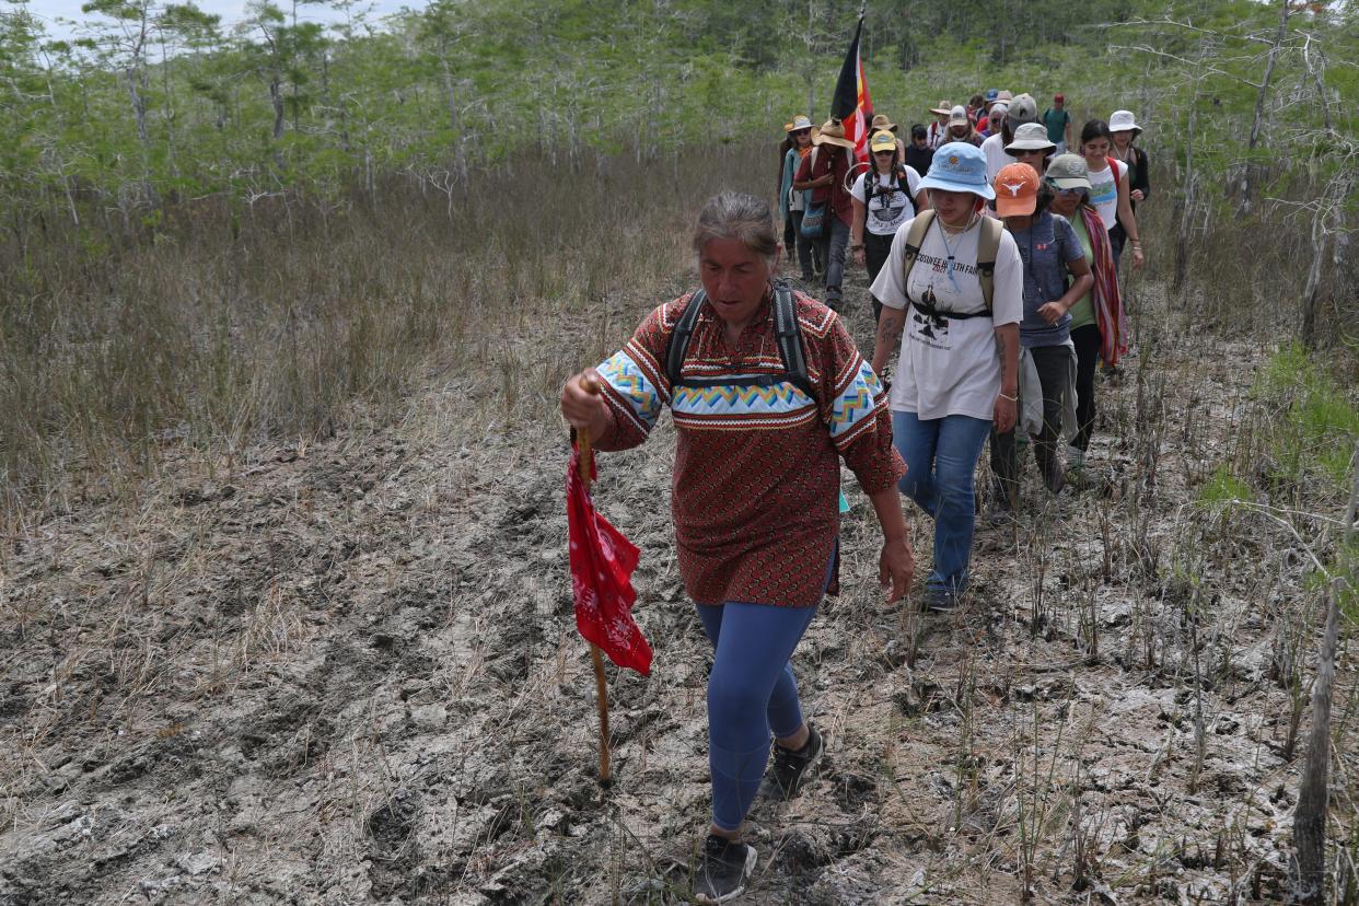
[[[154,242],[92,225],[0,246],[0,492],[135,496],[183,443],[231,475],[261,440],[386,424],[431,384],[481,425],[549,417],[578,355],[624,329],[601,302],[670,278],[696,200],[749,163],[520,158],[451,209],[393,179],[376,211],[205,205]]]

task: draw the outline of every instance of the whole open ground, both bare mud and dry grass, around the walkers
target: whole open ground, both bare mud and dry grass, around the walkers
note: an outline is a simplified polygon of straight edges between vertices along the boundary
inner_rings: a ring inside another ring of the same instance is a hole
[[[204,215],[80,265],[79,291],[75,251],[29,273],[52,342],[4,346],[34,378],[4,403],[29,413],[4,448],[26,484],[0,547],[0,899],[680,902],[707,647],[658,515],[673,433],[601,466],[658,655],[612,685],[602,797],[554,399],[692,280],[716,174],[760,189],[766,158],[591,163],[590,193],[523,162],[451,225],[394,183],[379,212],[261,211],[217,246],[230,221]],[[1091,482],[1053,503],[1027,474],[959,614],[883,607],[851,492],[845,591],[795,664],[830,759],[754,816],[752,902],[1280,896],[1339,497],[1271,466],[1288,409],[1258,390],[1264,299],[1207,331],[1215,272],[1185,304],[1159,266],[1132,292],[1139,356],[1099,388]],[[130,297],[126,334],[88,341]],[[1223,465],[1249,499],[1205,496]],[[1336,702],[1352,902],[1344,664]]]

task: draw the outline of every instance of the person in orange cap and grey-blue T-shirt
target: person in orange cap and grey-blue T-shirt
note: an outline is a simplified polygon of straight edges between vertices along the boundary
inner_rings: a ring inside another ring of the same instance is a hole
[[[1048,129],[1037,126],[1042,141]],[[1022,128],[1022,126],[1021,126]],[[1065,484],[1057,439],[1063,425],[1070,375],[1075,365],[1071,346],[1071,307],[1094,284],[1086,255],[1065,217],[1046,211],[1051,192],[1041,190],[1038,168],[1011,163],[996,174],[996,216],[1004,220],[1023,261],[1023,321],[1019,322],[1021,409],[1033,418],[1021,418],[1034,436],[1033,452],[1038,471],[1052,493]],[[1070,278],[1068,278],[1070,277]],[[1037,382],[1025,380],[1029,374]],[[1038,405],[1041,401],[1041,406]],[[1008,513],[1018,499],[1019,463],[1015,456],[1015,429],[991,433],[991,471],[995,477],[992,513]]]

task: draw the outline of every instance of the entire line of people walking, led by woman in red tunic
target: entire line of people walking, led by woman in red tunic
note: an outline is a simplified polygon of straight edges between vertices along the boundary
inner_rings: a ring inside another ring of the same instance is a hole
[[[909,143],[875,115],[866,163],[841,122],[794,118],[781,242],[765,201],[708,200],[693,234],[701,287],[561,393],[567,421],[601,451],[643,443],[673,414],[680,573],[713,648],[700,902],[745,890],[749,810],[796,796],[824,751],[790,659],[837,591],[841,460],[881,526],[889,602],[915,575],[905,494],[934,520],[921,604],[953,610],[969,583],[983,446],[995,509],[1017,503],[1017,432],[1060,493],[1090,444],[1095,365],[1127,348],[1118,259],[1129,244],[1144,259],[1133,204],[1150,193],[1132,114],[1075,136],[1061,95],[1040,117],[1031,95],[1004,91],[931,113]],[[1065,153],[1075,139],[1079,153]],[[819,272],[822,300],[777,278],[784,251],[805,285]],[[871,359],[837,314],[847,253],[870,277]]]

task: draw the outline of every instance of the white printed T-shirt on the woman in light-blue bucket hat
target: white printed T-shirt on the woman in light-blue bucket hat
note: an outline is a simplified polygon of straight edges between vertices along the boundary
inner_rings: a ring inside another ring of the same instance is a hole
[[[897,412],[913,412],[920,418],[972,416],[991,420],[1000,393],[1000,352],[995,329],[1023,319],[1023,262],[1008,232],[1000,234],[996,251],[992,316],[931,318],[908,306],[909,299],[934,303],[940,311],[985,311],[981,280],[977,277],[977,242],[981,225],[945,243],[935,220],[920,244],[911,269],[911,285],[902,285],[901,250],[911,221],[905,221],[892,242],[892,254],[872,283],[872,296],[889,308],[906,308],[901,356],[892,382],[889,405]],[[949,255],[953,249],[953,280]]]

